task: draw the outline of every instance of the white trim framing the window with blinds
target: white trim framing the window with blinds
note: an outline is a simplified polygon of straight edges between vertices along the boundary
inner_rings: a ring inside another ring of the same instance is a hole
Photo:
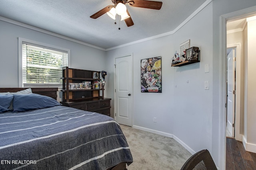
[[[24,39],[21,37],[18,37],[18,86],[19,87],[23,87],[22,86],[22,42],[27,42],[27,43],[32,43],[32,44],[36,44],[36,45],[42,45],[45,47],[50,47],[53,49],[60,49],[62,51],[67,51],[68,52],[68,67],[70,67],[70,49],[65,49],[62,47],[57,47],[54,45],[50,45],[50,44],[45,44],[45,43],[40,43],[37,41],[32,41],[30,39]]]

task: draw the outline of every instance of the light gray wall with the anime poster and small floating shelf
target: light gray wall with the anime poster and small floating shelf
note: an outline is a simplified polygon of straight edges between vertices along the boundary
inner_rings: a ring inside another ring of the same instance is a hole
[[[112,98],[112,106],[114,58],[132,54],[133,125],[173,134],[193,152],[212,150],[212,23],[210,3],[176,33],[107,51],[106,56],[107,93]],[[190,47],[200,48],[200,63],[172,67],[175,51],[188,39]],[[157,56],[162,56],[162,93],[141,93],[140,60]],[[210,65],[208,73],[204,72],[205,64]],[[206,80],[209,80],[210,90],[204,90]],[[157,118],[157,123],[153,122],[153,117]]]

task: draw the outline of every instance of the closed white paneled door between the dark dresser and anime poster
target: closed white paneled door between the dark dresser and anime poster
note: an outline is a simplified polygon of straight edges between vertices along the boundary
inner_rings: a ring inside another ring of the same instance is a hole
[[[116,59],[116,121],[132,126],[132,56]]]

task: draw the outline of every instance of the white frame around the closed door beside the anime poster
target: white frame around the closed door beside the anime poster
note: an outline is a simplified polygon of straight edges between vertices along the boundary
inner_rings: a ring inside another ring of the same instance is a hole
[[[134,90],[133,90],[133,53],[132,54],[127,54],[127,55],[120,55],[119,57],[114,57],[114,119],[116,120],[116,59],[118,58],[122,58],[122,57],[127,57],[127,56],[131,56],[132,57],[132,95],[130,96],[130,98],[132,98],[132,102],[131,102],[131,108],[132,108],[132,113],[131,113],[131,119],[132,119],[132,127],[134,124],[134,119],[133,119],[133,96],[134,96]]]

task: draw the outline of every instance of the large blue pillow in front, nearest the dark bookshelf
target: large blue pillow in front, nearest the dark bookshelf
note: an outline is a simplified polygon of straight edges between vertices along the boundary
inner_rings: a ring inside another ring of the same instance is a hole
[[[61,105],[55,99],[40,94],[14,94],[13,111],[27,111]]]

